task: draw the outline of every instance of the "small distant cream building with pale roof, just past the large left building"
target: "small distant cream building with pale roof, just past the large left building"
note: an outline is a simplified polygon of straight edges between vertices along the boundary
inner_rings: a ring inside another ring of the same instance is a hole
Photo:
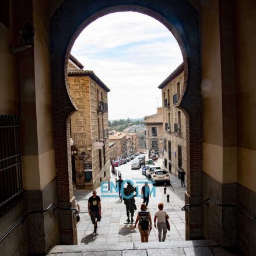
[[[115,142],[117,145],[117,158],[123,159],[127,157],[127,138],[124,132],[111,132],[109,141]]]

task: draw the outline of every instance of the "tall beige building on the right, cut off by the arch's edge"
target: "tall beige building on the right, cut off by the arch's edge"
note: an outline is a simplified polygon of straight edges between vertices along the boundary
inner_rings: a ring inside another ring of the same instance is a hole
[[[163,102],[164,168],[175,176],[187,172],[187,124],[182,110],[176,107],[184,87],[184,64],[161,85]],[[185,176],[186,178],[187,176]]]

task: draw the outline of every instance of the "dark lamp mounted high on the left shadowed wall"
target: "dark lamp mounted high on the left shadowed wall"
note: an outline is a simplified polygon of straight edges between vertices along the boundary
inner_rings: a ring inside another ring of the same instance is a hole
[[[28,23],[28,22],[25,23],[24,27],[22,29],[20,29],[20,31],[19,31],[20,35],[22,36],[20,43],[17,47],[9,49],[10,54],[16,54],[17,52],[31,48],[33,45],[33,41],[34,41],[35,31],[36,31],[36,29],[34,29],[34,27],[30,23]],[[25,45],[20,46],[22,41],[24,41]]]

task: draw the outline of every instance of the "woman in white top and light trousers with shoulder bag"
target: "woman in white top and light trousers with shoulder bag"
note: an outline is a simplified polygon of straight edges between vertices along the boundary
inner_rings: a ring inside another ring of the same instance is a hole
[[[156,211],[154,224],[156,227],[156,219],[157,219],[157,229],[158,229],[158,240],[159,242],[164,242],[166,240],[166,233],[167,233],[167,225],[166,219],[169,219],[169,215],[163,210],[163,203],[158,204],[159,211]],[[162,232],[163,232],[163,239],[162,239]]]

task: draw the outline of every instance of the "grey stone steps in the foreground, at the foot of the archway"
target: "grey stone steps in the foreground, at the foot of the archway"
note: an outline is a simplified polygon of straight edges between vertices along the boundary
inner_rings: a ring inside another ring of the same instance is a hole
[[[51,256],[230,256],[212,240],[55,246]]]

